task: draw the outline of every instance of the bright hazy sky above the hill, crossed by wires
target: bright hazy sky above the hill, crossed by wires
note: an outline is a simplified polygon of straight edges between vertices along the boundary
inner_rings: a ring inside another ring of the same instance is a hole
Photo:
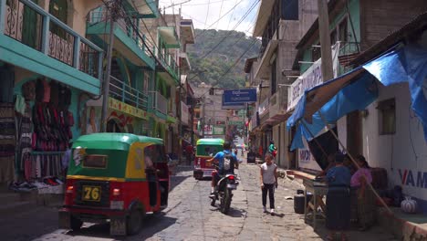
[[[160,7],[161,9],[166,7],[167,14],[172,14],[173,11],[177,14],[181,8],[182,17],[193,19],[194,28],[233,30],[235,27],[237,31],[252,35],[259,2],[259,0],[160,0]],[[245,19],[237,26],[248,11]],[[218,21],[220,17],[222,18]],[[218,22],[215,23],[216,21]]]

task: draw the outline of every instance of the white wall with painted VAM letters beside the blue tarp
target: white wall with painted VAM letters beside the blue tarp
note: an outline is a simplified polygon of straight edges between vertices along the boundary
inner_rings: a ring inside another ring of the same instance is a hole
[[[396,100],[396,133],[379,135],[378,101],[393,97]],[[367,161],[372,167],[387,170],[390,188],[399,184],[404,194],[427,200],[427,180],[417,179],[418,172],[427,172],[427,144],[423,138],[422,124],[411,110],[408,85],[380,86],[379,99],[368,110],[368,117],[363,119],[363,153]],[[410,175],[413,183],[408,180]]]

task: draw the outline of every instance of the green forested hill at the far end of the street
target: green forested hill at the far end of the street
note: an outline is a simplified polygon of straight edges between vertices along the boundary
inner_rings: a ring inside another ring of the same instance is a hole
[[[190,82],[196,85],[205,82],[217,88],[244,87],[245,59],[256,57],[260,41],[236,31],[212,29],[203,32],[202,29],[195,29],[195,35],[194,45],[189,45],[187,49],[193,68],[189,75]],[[212,53],[204,57],[212,49]],[[231,68],[236,61],[234,68]],[[229,68],[231,70],[224,76]]]

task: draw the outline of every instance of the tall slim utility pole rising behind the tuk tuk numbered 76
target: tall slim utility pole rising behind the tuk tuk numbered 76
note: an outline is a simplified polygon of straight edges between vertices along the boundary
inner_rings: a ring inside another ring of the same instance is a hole
[[[100,120],[100,131],[107,131],[107,111],[109,109],[109,75],[111,73],[111,58],[112,50],[114,45],[114,26],[116,19],[119,16],[119,9],[121,5],[121,0],[118,1],[109,1],[109,50],[107,52],[107,68],[104,75],[103,83],[103,98],[102,98],[102,112]]]

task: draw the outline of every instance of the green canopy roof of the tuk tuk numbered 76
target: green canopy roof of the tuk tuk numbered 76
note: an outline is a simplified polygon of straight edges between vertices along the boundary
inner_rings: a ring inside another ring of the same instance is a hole
[[[160,138],[139,136],[129,133],[94,133],[82,135],[74,141],[73,148],[83,147],[88,149],[109,149],[128,151],[134,142],[163,144]]]

